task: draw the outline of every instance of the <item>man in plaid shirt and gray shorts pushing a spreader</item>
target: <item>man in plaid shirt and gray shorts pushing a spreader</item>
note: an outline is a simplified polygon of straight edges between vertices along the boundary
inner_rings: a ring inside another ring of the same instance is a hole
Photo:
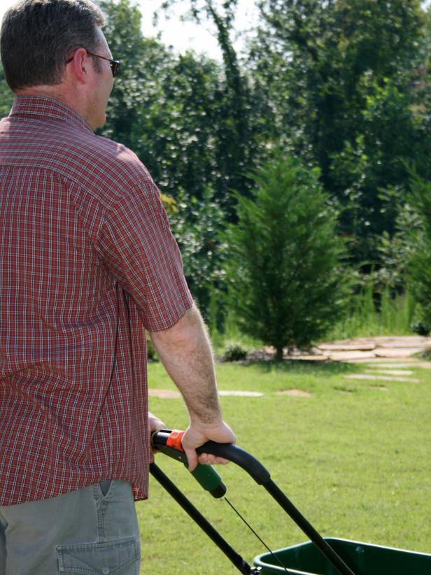
[[[90,0],[22,0],[1,27],[2,575],[139,573],[134,501],[163,425],[144,326],[188,408],[190,469],[197,446],[234,441],[157,188],[92,132],[118,71],[103,25]]]

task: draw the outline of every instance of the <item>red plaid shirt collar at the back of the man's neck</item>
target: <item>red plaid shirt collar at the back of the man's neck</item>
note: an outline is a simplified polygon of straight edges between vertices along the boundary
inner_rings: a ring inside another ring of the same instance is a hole
[[[54,98],[45,96],[17,96],[10,116],[25,115],[31,118],[53,118],[93,132],[82,116]]]

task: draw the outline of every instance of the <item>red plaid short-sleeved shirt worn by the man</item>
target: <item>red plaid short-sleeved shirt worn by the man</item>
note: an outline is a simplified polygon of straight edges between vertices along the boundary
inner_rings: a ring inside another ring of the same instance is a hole
[[[136,155],[59,101],[0,122],[0,505],[103,479],[148,492],[145,328],[192,298]]]

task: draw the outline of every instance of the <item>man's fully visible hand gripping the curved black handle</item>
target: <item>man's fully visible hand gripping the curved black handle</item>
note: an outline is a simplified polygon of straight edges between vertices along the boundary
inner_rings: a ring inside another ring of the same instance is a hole
[[[206,441],[216,441],[217,443],[235,443],[234,432],[224,421],[220,420],[218,425],[197,425],[190,423],[183,435],[183,449],[187,455],[189,471],[196,469],[198,462],[204,465],[218,463],[229,463],[228,460],[209,453],[197,455],[196,448],[202,446]]]

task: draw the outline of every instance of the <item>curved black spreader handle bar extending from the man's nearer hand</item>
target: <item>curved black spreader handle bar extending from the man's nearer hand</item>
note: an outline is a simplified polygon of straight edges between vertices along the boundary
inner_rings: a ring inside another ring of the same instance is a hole
[[[164,433],[169,433],[164,430]],[[153,445],[157,448],[158,433],[153,434]],[[163,438],[161,441],[165,441]],[[334,565],[340,575],[355,575],[348,565],[341,559],[341,557],[332,549],[330,544],[323,539],[318,531],[309,523],[308,520],[299,512],[294,504],[284,495],[284,493],[272,481],[269,471],[248,451],[234,445],[233,443],[215,443],[215,441],[207,441],[204,445],[197,448],[197,453],[209,453],[223,457],[232,461],[242,467],[259,485],[263,487],[274,497],[276,502],[284,509],[286,513],[295,521],[299,529],[301,529],[313,544],[319,549],[325,558]]]

